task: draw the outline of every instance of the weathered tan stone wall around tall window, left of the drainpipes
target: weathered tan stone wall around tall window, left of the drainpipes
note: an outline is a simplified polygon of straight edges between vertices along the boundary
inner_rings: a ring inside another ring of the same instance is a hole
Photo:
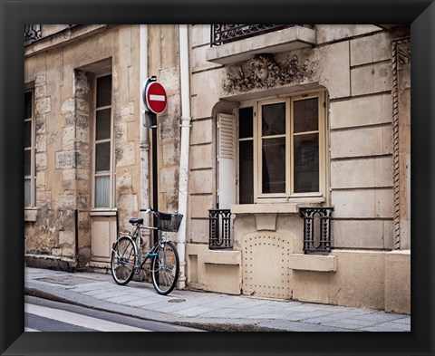
[[[24,225],[27,254],[77,257],[81,265],[91,258],[95,72],[111,72],[113,77],[115,206],[120,229],[130,227],[128,217],[137,215],[138,35],[135,25],[78,26],[26,47],[24,82],[34,83],[36,126],[36,217]]]

